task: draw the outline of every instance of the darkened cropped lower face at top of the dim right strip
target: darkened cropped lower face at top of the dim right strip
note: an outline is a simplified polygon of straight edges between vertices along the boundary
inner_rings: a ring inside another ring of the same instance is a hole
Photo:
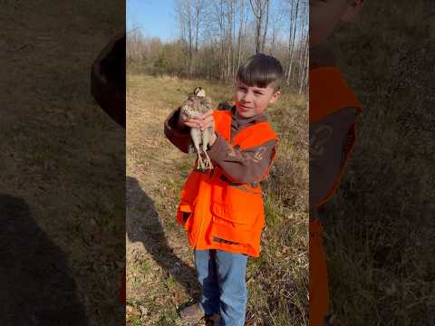
[[[363,0],[310,0],[310,45],[324,42],[339,22],[358,14]]]

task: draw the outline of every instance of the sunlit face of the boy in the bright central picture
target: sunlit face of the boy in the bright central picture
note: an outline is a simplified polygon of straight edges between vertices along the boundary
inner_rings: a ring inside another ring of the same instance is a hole
[[[236,102],[237,113],[240,117],[251,118],[266,110],[269,103],[275,103],[281,95],[275,91],[273,85],[266,88],[247,86],[237,80],[234,101]]]

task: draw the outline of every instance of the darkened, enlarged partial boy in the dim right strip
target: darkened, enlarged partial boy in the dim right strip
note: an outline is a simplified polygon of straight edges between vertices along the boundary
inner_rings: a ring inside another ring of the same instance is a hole
[[[351,21],[362,0],[310,1],[310,306],[311,326],[323,325],[328,278],[317,209],[333,197],[355,142],[361,105],[335,68],[325,43],[340,22]]]

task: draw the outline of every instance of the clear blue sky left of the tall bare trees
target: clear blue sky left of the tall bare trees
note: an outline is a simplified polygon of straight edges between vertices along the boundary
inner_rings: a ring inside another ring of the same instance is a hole
[[[127,29],[133,25],[139,25],[144,36],[159,36],[162,41],[178,38],[174,0],[128,0]]]

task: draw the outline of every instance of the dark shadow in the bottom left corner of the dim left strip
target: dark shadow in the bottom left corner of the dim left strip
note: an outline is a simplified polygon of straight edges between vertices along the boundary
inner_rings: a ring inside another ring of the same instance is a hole
[[[66,256],[36,224],[29,206],[0,194],[0,323],[86,326]]]

